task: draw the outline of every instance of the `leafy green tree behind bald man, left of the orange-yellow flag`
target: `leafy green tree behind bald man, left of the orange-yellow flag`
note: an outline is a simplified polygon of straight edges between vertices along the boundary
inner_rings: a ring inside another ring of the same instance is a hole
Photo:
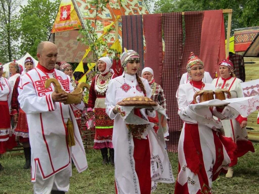
[[[37,46],[47,41],[59,9],[60,1],[54,3],[49,0],[29,0],[21,6],[21,54],[30,53],[34,58],[37,55]]]

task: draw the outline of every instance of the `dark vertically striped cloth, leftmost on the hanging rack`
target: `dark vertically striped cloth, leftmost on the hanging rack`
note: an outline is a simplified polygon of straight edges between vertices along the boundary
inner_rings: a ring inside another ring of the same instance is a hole
[[[144,66],[142,15],[122,16],[122,48],[134,50],[140,56],[140,73]],[[123,50],[124,52],[124,50]]]

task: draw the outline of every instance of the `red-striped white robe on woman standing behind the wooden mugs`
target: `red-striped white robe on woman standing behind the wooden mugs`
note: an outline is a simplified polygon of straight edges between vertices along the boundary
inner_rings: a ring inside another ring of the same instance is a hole
[[[243,89],[240,83],[242,83],[241,79],[231,76],[227,79],[219,77],[212,81],[212,84],[216,87],[216,89],[228,89],[228,91],[231,93],[231,98],[244,97]],[[225,97],[226,99],[228,98],[227,94],[225,94]],[[241,157],[248,151],[255,151],[253,144],[248,140],[246,128],[240,127],[240,123],[243,120],[247,120],[247,118],[244,118],[240,115],[236,119],[222,121],[226,137],[231,137],[238,146],[238,151],[236,154],[237,157]],[[236,162],[237,159],[233,165],[235,165]],[[233,165],[231,164],[230,166]]]

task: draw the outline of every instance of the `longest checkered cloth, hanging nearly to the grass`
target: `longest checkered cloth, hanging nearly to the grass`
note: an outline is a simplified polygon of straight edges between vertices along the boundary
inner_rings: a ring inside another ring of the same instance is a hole
[[[168,151],[178,152],[178,141],[181,134],[182,120],[178,116],[176,91],[180,82],[180,64],[183,51],[182,13],[162,14],[165,55],[162,71],[162,88],[166,96],[169,141]]]

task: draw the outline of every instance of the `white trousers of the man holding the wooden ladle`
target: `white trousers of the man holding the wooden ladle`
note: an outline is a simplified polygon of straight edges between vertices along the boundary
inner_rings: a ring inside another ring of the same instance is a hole
[[[42,180],[39,167],[36,169],[36,179],[33,185],[34,194],[49,194],[51,190],[65,191],[69,189],[69,178],[72,175],[71,164],[57,174]]]

